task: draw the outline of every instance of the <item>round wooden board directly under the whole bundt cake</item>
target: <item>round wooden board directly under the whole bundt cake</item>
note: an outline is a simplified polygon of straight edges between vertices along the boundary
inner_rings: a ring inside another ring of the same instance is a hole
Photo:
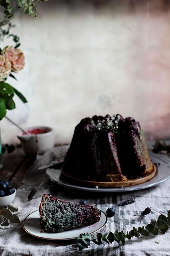
[[[74,184],[77,184],[80,186],[87,186],[91,188],[95,188],[95,186],[99,186],[99,188],[121,188],[122,186],[129,187],[129,186],[138,185],[152,179],[156,174],[156,166],[154,164],[152,164],[152,166],[153,166],[152,170],[142,178],[130,179],[130,180],[119,181],[119,182],[97,182],[97,181],[89,181],[89,180],[80,180],[66,174],[63,171],[63,168],[61,168],[61,174],[63,178],[65,178],[69,182],[73,182]]]

